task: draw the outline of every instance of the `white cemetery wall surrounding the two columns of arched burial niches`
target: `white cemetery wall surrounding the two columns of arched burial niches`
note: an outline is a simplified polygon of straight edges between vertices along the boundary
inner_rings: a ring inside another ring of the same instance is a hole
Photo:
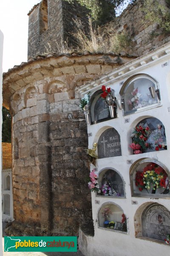
[[[123,70],[123,75],[120,79],[109,79],[109,81],[101,83],[101,87],[102,85],[105,85],[107,88],[111,87],[112,89],[114,89],[116,99],[121,99],[119,91],[121,89],[120,83],[122,81],[126,81],[130,76],[133,76],[137,73],[147,74],[156,79],[156,81],[158,81],[161,95],[161,105],[159,107],[148,108],[144,111],[129,114],[127,116],[123,116],[122,110],[119,110],[118,108],[118,118],[109,119],[105,122],[99,122],[94,125],[88,125],[88,133],[92,134],[92,136],[89,137],[88,148],[93,148],[93,143],[97,143],[101,134],[108,128],[114,128],[116,129],[116,131],[118,131],[120,135],[122,155],[107,158],[100,157],[100,159],[96,160],[96,172],[100,174],[100,172],[102,172],[102,170],[104,169],[115,169],[117,172],[119,172],[125,181],[126,198],[99,196],[96,195],[95,192],[92,192],[92,210],[95,235],[92,238],[89,236],[85,236],[80,231],[79,236],[79,247],[82,253],[84,253],[85,255],[155,256],[162,255],[162,252],[164,252],[164,255],[168,255],[170,252],[170,247],[168,247],[168,245],[165,244],[164,241],[154,240],[146,237],[144,238],[142,236],[140,238],[137,238],[139,236],[139,230],[138,228],[136,228],[138,225],[135,226],[135,221],[137,221],[135,220],[135,214],[137,210],[139,210],[139,213],[141,215],[142,211],[145,208],[145,204],[150,205],[152,203],[158,203],[163,205],[167,208],[167,210],[170,211],[170,199],[132,197],[130,189],[130,166],[136,160],[144,157],[153,158],[163,163],[167,167],[167,169],[170,170],[170,112],[168,112],[168,108],[170,107],[170,57],[157,57],[156,59],[157,60],[153,61],[152,64],[147,65],[146,62],[143,66],[141,65],[140,68],[135,68],[134,66],[132,69],[128,68],[127,70]],[[168,65],[163,65],[164,63],[168,63]],[[117,70],[117,73],[119,73],[119,69]],[[97,90],[99,90],[100,88],[98,86]],[[94,91],[95,89],[92,88],[91,94],[93,94]],[[135,128],[135,126],[142,119],[147,117],[155,117],[163,123],[166,133],[167,150],[152,151],[143,154],[133,154],[132,150],[129,147],[130,143],[132,143],[132,140],[130,138],[132,128]],[[125,122],[125,119],[127,119],[127,122]],[[98,153],[99,152],[97,152],[96,150],[96,154]],[[91,170],[94,167],[95,166],[91,164]],[[97,202],[95,202],[96,200]],[[135,204],[132,204],[132,201],[135,201]],[[116,204],[123,210],[127,218],[127,233],[111,229],[107,230],[106,228],[99,227],[98,212],[100,207],[102,207],[102,205],[105,203]],[[85,241],[84,239],[86,239],[86,243],[83,242]]]

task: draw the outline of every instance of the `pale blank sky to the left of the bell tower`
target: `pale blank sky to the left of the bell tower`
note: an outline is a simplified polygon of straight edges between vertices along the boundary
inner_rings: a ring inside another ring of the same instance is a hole
[[[40,0],[1,0],[0,30],[3,32],[3,72],[27,61],[28,12]]]

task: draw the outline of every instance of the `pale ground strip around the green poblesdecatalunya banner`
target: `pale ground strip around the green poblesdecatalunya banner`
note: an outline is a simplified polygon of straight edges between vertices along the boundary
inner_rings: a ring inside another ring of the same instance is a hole
[[[5,227],[6,227],[6,223],[3,223],[3,256],[83,256],[83,254],[77,250],[77,252],[65,252],[65,253],[48,253],[48,252],[4,252],[4,236],[6,236],[5,233]]]

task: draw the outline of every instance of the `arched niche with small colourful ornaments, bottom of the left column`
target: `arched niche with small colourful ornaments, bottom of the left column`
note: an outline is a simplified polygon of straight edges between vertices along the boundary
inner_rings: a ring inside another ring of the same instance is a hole
[[[108,230],[127,232],[126,216],[122,208],[111,202],[102,204],[98,212],[98,226]]]

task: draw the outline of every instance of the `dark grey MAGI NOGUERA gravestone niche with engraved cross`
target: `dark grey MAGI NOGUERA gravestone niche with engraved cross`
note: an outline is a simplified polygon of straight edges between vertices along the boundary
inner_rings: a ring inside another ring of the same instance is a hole
[[[115,128],[108,128],[99,137],[97,143],[98,158],[118,157],[122,155],[120,135]]]

